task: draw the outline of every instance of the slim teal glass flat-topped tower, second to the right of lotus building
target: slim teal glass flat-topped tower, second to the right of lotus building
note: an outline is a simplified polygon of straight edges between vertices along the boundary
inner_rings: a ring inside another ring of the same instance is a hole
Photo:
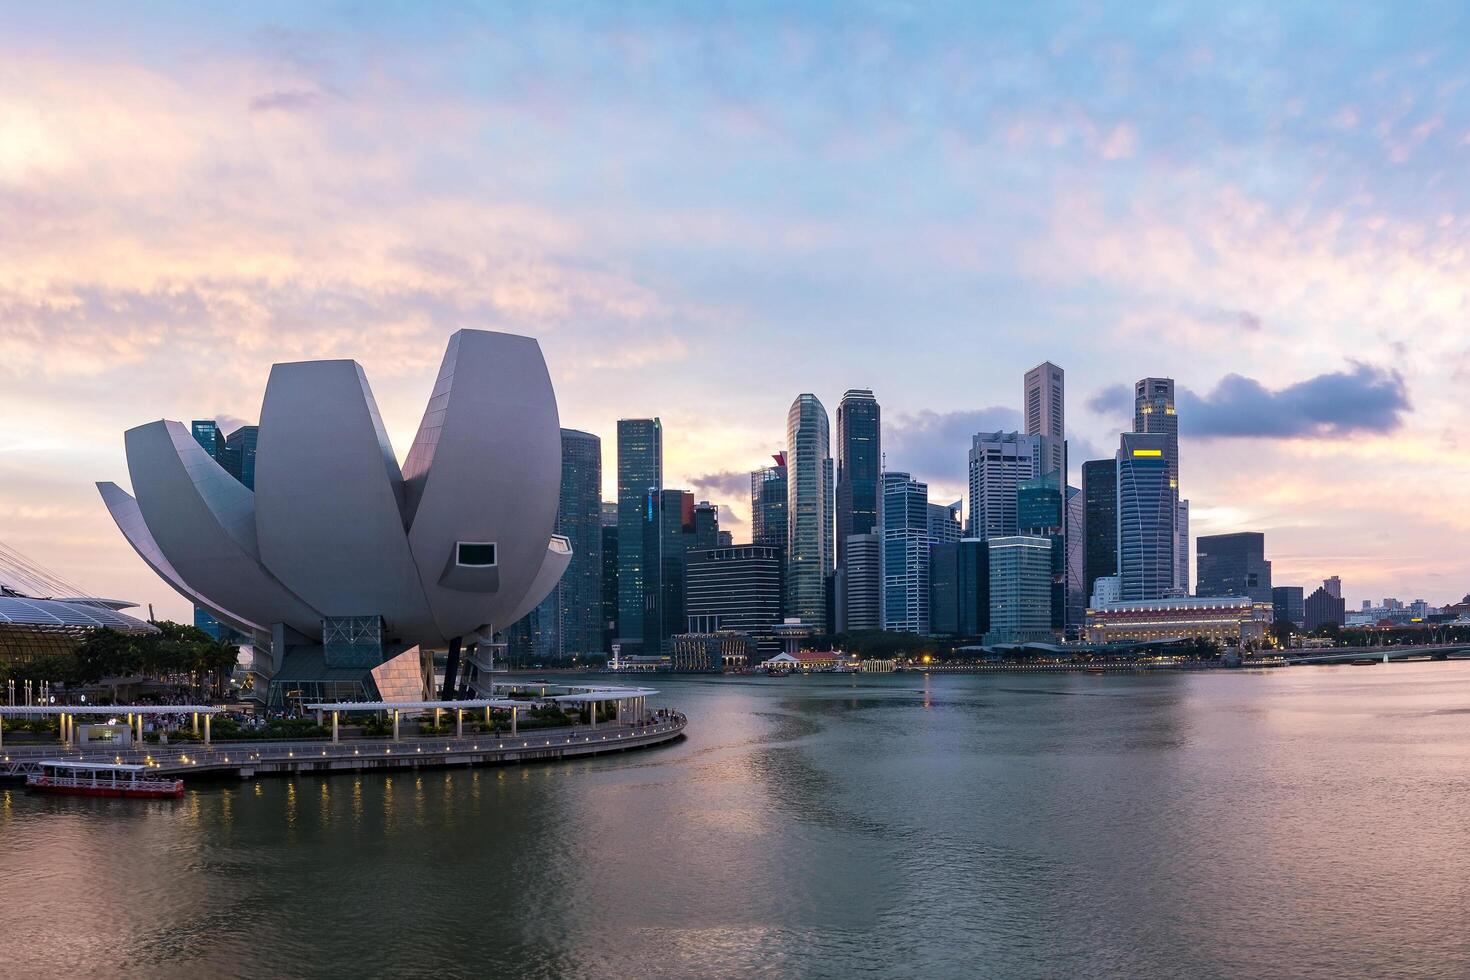
[[[617,420],[617,639],[623,652],[659,641],[659,494],[663,491],[663,425]]]

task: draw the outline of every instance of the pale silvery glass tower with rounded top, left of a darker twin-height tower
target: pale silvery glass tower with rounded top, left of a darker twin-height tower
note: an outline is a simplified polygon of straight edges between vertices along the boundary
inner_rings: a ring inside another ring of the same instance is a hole
[[[786,413],[786,616],[826,632],[832,570],[832,455],[826,408],[798,395]]]

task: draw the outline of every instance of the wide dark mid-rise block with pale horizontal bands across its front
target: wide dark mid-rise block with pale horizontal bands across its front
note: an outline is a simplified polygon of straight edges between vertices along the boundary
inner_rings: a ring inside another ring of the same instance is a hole
[[[698,548],[686,569],[685,629],[766,635],[781,623],[782,550],[770,545]]]

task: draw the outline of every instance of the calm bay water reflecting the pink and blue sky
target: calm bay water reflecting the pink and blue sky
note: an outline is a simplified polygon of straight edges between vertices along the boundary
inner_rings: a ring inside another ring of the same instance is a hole
[[[1470,976],[1470,663],[656,686],[603,760],[0,789],[0,973]]]

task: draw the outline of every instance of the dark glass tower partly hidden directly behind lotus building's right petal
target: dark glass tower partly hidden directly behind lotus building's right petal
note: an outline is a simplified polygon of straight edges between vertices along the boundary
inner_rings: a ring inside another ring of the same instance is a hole
[[[562,500],[556,532],[572,542],[572,561],[557,583],[554,652],[566,658],[603,646],[603,441],[562,429]]]

